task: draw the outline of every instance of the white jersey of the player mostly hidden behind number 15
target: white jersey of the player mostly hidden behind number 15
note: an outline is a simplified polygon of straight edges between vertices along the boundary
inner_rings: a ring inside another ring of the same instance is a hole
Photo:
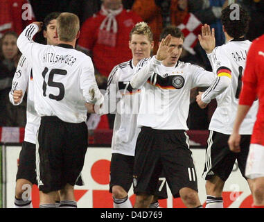
[[[22,90],[23,97],[20,103],[15,104],[12,93],[14,90]],[[36,144],[37,130],[40,124],[40,117],[34,108],[34,82],[32,74],[32,65],[28,62],[25,56],[21,56],[17,65],[14,78],[12,80],[12,89],[9,92],[9,99],[13,105],[19,105],[23,101],[24,95],[27,94],[26,101],[26,126],[24,141]]]

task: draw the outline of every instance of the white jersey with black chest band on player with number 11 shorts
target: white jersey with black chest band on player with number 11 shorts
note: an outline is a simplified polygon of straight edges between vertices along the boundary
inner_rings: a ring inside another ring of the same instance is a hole
[[[137,65],[139,71],[135,75],[140,77],[146,71],[150,72],[150,78],[141,87],[138,126],[158,130],[188,130],[186,120],[190,91],[194,87],[211,85],[215,74],[188,62],[178,61],[174,67],[162,64],[155,67],[154,64],[153,56],[141,60]]]

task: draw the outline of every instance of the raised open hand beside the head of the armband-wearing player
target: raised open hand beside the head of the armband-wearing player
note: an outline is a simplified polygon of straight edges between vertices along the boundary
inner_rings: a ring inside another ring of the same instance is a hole
[[[215,29],[211,28],[209,25],[204,24],[202,26],[202,35],[198,35],[198,39],[202,49],[206,51],[206,53],[211,53],[213,49],[215,49]]]

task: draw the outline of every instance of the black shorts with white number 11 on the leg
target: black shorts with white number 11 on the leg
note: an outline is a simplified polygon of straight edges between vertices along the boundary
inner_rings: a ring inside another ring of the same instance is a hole
[[[161,172],[175,198],[179,197],[179,190],[184,187],[198,191],[191,155],[184,130],[142,127],[134,160],[134,194],[155,194]]]

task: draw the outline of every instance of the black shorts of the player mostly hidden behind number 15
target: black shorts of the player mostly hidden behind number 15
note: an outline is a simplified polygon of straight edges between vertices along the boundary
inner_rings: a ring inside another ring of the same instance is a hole
[[[16,180],[25,179],[33,185],[37,185],[36,174],[36,145],[24,141],[19,153],[19,161],[17,163]]]

